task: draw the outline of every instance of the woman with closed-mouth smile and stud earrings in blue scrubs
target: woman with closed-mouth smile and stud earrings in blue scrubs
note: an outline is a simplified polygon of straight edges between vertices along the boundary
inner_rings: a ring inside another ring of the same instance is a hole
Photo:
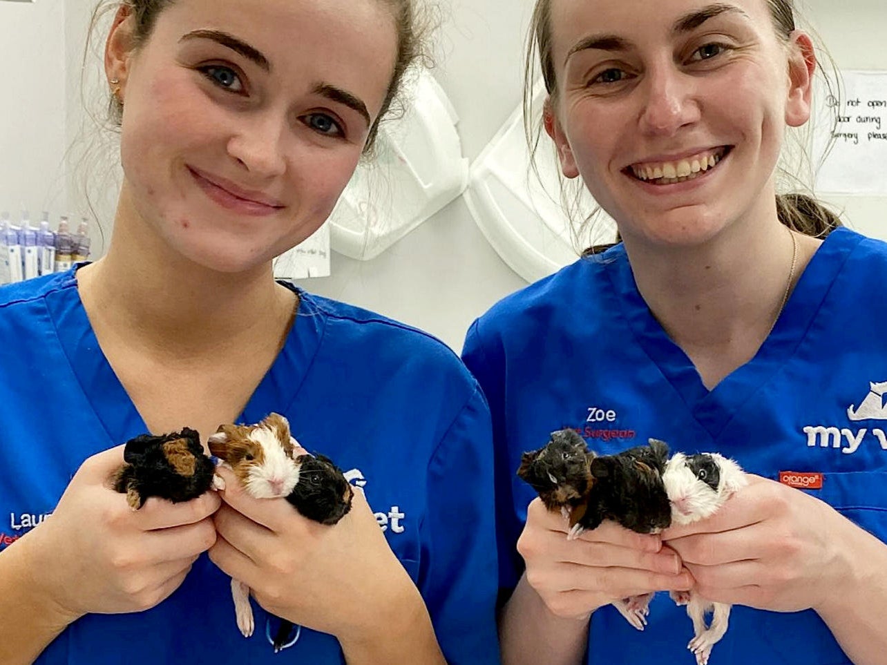
[[[108,252],[0,290],[0,661],[498,661],[475,380],[427,334],[271,270],[372,147],[416,20],[410,0],[116,4]],[[334,527],[230,475],[137,512],[109,488],[137,434],[206,441],[271,411],[362,490]],[[253,590],[250,638],[230,576]]]

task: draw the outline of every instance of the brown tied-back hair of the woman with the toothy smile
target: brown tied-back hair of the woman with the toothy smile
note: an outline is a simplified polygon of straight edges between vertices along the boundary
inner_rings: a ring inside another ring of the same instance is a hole
[[[542,133],[542,127],[532,127],[532,121],[530,120],[532,118],[532,89],[537,76],[537,55],[538,67],[548,92],[549,104],[556,106],[558,101],[557,74],[554,68],[552,53],[552,2],[553,0],[537,0],[530,19],[530,35],[524,66],[524,129],[530,144],[534,168],[536,168],[536,153]],[[766,0],[766,3],[770,9],[770,16],[773,20],[773,28],[776,34],[783,43],[789,43],[790,35],[796,27],[793,0]],[[821,64],[818,63],[817,66],[825,78],[828,90],[834,90],[833,85],[829,81],[828,74],[826,74]],[[561,198],[565,205],[569,207],[563,192],[561,192]],[[600,207],[598,207],[598,210],[600,210]],[[598,210],[587,215],[585,222],[587,223],[591,220]],[[838,215],[828,209],[828,207],[812,196],[799,192],[777,194],[776,210],[781,223],[793,231],[799,231],[810,236],[825,237],[828,233],[842,225]],[[618,231],[616,231],[616,242],[619,242]],[[586,249],[583,254],[600,254],[600,252],[605,251],[610,246],[612,244],[595,245]]]

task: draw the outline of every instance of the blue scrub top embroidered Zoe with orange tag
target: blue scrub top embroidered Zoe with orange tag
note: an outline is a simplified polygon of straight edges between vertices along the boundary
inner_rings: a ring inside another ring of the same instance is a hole
[[[651,315],[624,246],[581,259],[498,302],[467,333],[463,358],[490,402],[496,444],[500,584],[514,588],[514,544],[536,496],[514,474],[521,453],[573,427],[599,453],[663,439],[717,451],[750,473],[820,473],[808,489],[887,541],[887,244],[832,232],[773,332],[713,390]],[[883,384],[883,385],[882,385]],[[665,593],[633,629],[594,612],[589,663],[692,662],[693,629]],[[887,628],[885,628],[887,630]],[[734,606],[718,665],[849,663],[812,611]]]

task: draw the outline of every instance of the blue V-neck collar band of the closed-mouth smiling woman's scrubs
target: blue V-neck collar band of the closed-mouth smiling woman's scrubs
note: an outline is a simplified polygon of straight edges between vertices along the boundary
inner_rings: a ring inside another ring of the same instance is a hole
[[[323,336],[326,317],[318,316],[320,311],[310,295],[288,282],[279,283],[298,294],[299,311],[283,348],[237,419],[239,423],[258,422],[269,410],[290,409]],[[144,419],[98,345],[77,291],[75,270],[46,302],[68,362],[105,427],[109,444],[147,432]]]

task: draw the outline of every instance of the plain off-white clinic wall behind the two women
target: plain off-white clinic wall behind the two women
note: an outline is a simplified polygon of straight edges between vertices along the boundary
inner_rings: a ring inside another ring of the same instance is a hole
[[[433,75],[458,115],[462,155],[474,162],[521,104],[533,0],[442,4]],[[94,55],[86,63],[85,91],[81,85],[94,5],[93,0],[0,0],[0,44],[10,64],[0,91],[0,209],[15,218],[27,209],[32,223],[49,211],[53,229],[59,215],[70,215],[75,227],[88,215],[91,259],[103,253],[110,239],[116,203],[113,196],[93,200],[94,214],[90,211],[77,181],[82,168],[78,172],[76,151],[69,151],[82,140],[84,123],[90,123],[83,100],[107,94]],[[841,69],[887,72],[887,0],[804,0],[797,5]],[[93,53],[100,52],[98,46]],[[887,179],[887,163],[871,167]],[[108,183],[107,192],[115,196],[113,180]],[[852,228],[887,239],[887,196],[822,193],[820,198],[843,210]],[[463,196],[372,259],[333,252],[330,270],[329,277],[297,282],[313,293],[416,325],[456,350],[475,317],[527,284],[493,249]]]

